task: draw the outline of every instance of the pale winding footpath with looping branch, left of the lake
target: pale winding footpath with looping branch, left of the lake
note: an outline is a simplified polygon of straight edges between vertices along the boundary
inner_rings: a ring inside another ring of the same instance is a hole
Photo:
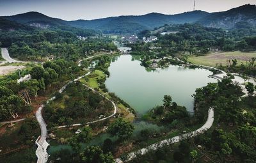
[[[95,55],[95,56],[91,56],[89,58],[86,58],[86,59],[92,59],[92,58],[96,58],[96,57],[99,57],[99,56],[104,56],[104,55],[107,55],[107,54],[112,54],[112,51],[109,52],[109,53],[106,53],[106,54],[99,54],[99,55]],[[86,60],[84,59],[84,60]],[[81,60],[83,61],[83,60]],[[79,61],[79,63],[81,63],[81,61]],[[81,66],[81,64],[80,64]],[[62,93],[68,86],[68,84],[72,83],[72,82],[76,82],[78,81],[79,79],[82,79],[84,76],[86,75],[89,75],[90,72],[88,72],[87,74],[85,75],[82,75],[81,77],[77,77],[77,79],[74,79],[74,81],[70,81],[68,82],[67,84],[65,84],[65,86],[63,86],[60,90],[59,90],[59,93]],[[88,87],[88,86],[87,86]],[[90,87],[88,87],[90,88]],[[91,88],[92,89],[92,88]],[[93,90],[94,91],[94,90]],[[101,94],[100,94],[101,95]],[[102,95],[102,97],[104,97],[104,95]],[[50,98],[49,100],[47,100],[46,104],[48,104],[49,102],[51,102],[52,100],[54,100],[56,97],[52,97]],[[105,97],[106,98],[106,97]],[[108,98],[106,98],[108,99]],[[108,99],[109,100],[109,99]],[[111,100],[109,100],[111,101]],[[111,101],[112,102],[112,101]],[[112,102],[112,104],[114,105],[114,108],[115,108],[115,111],[113,114],[111,114],[111,116],[108,116],[106,118],[102,118],[100,120],[95,120],[95,121],[90,121],[88,122],[88,124],[90,123],[95,123],[95,122],[98,122],[98,121],[103,121],[103,120],[106,120],[108,118],[111,118],[112,116],[114,116],[116,114],[116,105]],[[47,139],[47,125],[44,121],[44,118],[42,116],[42,109],[44,109],[44,104],[40,105],[40,107],[38,108],[38,110],[36,111],[36,120],[38,121],[39,125],[40,125],[40,129],[41,129],[41,135],[36,139],[36,144],[38,146],[38,148],[36,149],[36,157],[37,157],[37,163],[45,163],[47,162],[48,160],[48,153],[47,153],[47,147],[50,145],[49,143],[47,143],[46,139]],[[77,124],[75,124],[77,125]],[[74,125],[74,126],[75,126]]]

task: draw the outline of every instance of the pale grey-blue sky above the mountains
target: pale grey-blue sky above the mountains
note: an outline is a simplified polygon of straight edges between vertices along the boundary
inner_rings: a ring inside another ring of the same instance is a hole
[[[256,0],[196,0],[196,10],[221,12]],[[194,0],[0,0],[0,15],[40,12],[63,20],[99,19],[157,12],[176,14],[193,10]]]

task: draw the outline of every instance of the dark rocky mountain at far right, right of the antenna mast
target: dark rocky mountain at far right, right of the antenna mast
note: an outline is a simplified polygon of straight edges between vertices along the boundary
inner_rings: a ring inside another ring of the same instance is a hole
[[[198,20],[207,27],[232,29],[241,26],[256,26],[256,5],[246,4],[226,12],[211,13]]]

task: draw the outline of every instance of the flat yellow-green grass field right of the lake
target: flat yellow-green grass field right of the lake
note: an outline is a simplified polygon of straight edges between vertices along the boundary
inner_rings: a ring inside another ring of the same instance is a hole
[[[197,65],[217,66],[227,65],[227,59],[237,59],[237,65],[246,64],[248,59],[256,57],[256,52],[216,52],[206,56],[191,56],[188,61]]]

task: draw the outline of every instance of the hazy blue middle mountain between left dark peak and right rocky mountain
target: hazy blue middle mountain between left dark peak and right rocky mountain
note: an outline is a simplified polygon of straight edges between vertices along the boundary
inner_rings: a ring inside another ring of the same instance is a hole
[[[70,26],[84,27],[87,29],[100,29],[103,33],[136,33],[144,29],[164,24],[184,24],[185,22],[196,22],[209,13],[202,11],[186,12],[177,15],[164,15],[161,13],[148,13],[141,16],[108,17],[95,20],[70,21]]]

